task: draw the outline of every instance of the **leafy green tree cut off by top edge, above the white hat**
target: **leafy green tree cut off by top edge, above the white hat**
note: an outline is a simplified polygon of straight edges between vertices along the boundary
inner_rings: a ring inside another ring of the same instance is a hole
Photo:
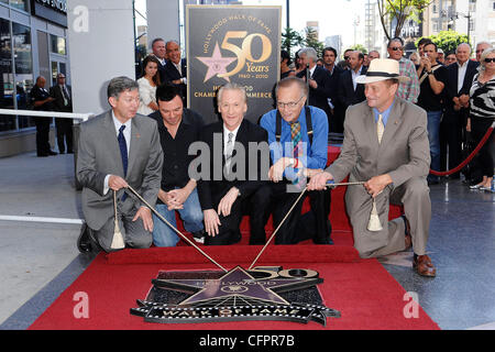
[[[400,36],[400,31],[410,18],[417,19],[430,6],[432,0],[376,0],[378,6],[380,21],[383,31],[388,40]],[[396,26],[392,33],[392,23],[395,20]]]

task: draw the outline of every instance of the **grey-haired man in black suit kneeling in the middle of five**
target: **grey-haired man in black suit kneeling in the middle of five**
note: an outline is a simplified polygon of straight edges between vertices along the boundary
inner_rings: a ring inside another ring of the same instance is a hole
[[[270,168],[268,136],[261,127],[244,119],[248,97],[243,87],[227,84],[218,91],[217,99],[222,121],[202,130],[200,139],[208,146],[205,151],[208,157],[200,163],[200,174],[191,175],[199,179],[199,202],[207,232],[205,244],[233,244],[241,240],[243,202],[251,206],[251,243],[255,243],[254,239],[265,239],[265,215],[253,205],[258,202],[257,191],[265,183],[262,175],[267,175]]]

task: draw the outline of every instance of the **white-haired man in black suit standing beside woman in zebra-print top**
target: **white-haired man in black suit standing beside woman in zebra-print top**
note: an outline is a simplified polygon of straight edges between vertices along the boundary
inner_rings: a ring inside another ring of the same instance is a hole
[[[449,147],[449,169],[461,161],[461,143],[469,116],[470,89],[480,63],[471,61],[471,46],[459,44],[455,50],[457,63],[447,67],[444,90],[446,113],[440,127],[440,162],[447,168],[447,147]],[[459,173],[451,175],[459,178]]]

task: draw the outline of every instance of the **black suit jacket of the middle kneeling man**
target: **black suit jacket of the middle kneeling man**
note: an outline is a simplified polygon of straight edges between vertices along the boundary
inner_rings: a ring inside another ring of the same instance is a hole
[[[249,143],[250,142],[268,142],[267,132],[254,124],[246,119],[244,119],[239,128],[238,134],[235,136],[235,144],[240,143],[244,147],[245,154],[244,160],[237,161],[238,163],[244,162],[245,165],[245,177],[243,179],[233,179],[228,180],[223,174],[223,166],[226,164],[226,158],[223,155],[223,145],[226,141],[223,141],[223,121],[215,122],[212,124],[207,125],[200,136],[201,141],[207,143],[209,150],[211,151],[209,162],[210,169],[205,175],[206,177],[201,177],[198,182],[198,196],[199,202],[201,204],[201,209],[216,209],[221,198],[229,191],[230,188],[237,187],[241,193],[241,199],[244,199],[252,195],[260,186],[262,186],[265,182],[262,180],[262,160],[263,157],[267,158],[270,163],[270,150],[266,150],[266,155],[261,155],[261,152],[257,152],[257,164],[255,169],[253,169],[252,165],[250,165],[249,161]],[[215,143],[215,141],[217,143]],[[220,144],[221,143],[221,144]],[[267,145],[267,144],[266,144]],[[221,154],[221,155],[220,155]],[[241,154],[240,154],[241,155]],[[237,151],[234,150],[232,154],[232,163],[235,163]],[[219,163],[221,161],[221,165]],[[233,166],[233,173],[235,173],[235,165]],[[265,170],[267,172],[267,170]],[[220,179],[218,180],[218,176],[220,175]]]

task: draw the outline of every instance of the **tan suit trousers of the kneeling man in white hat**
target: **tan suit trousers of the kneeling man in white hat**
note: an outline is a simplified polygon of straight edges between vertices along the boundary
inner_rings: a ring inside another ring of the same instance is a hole
[[[388,221],[389,205],[404,206],[410,224],[413,249],[426,254],[431,220],[430,190],[425,177],[413,177],[397,188],[384,188],[376,197],[376,208],[383,230],[369,231],[367,223],[373,200],[364,187],[349,187],[345,204],[354,234],[354,248],[361,257],[377,257],[405,250],[405,222],[402,218]]]

